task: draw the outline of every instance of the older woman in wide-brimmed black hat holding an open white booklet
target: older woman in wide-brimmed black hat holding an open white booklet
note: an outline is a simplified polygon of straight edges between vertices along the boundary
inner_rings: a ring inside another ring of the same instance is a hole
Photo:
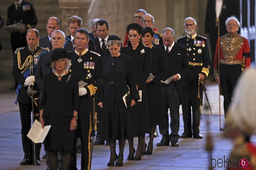
[[[43,143],[44,149],[49,151],[52,170],[58,166],[57,151],[61,151],[61,169],[69,169],[74,130],[77,127],[78,79],[68,71],[71,56],[63,48],[53,50],[48,64],[53,72],[45,75],[43,96],[40,99],[39,120],[42,128],[51,125]]]

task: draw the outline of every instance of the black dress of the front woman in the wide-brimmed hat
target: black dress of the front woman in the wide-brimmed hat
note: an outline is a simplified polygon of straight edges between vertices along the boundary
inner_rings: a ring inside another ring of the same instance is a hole
[[[72,151],[74,131],[70,131],[70,122],[78,107],[77,76],[68,73],[59,81],[53,73],[46,74],[40,109],[44,109],[44,125],[51,125],[51,128],[44,140],[45,150]]]

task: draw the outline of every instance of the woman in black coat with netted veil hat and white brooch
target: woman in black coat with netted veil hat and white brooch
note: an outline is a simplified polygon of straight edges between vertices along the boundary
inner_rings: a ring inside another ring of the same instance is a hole
[[[146,80],[151,71],[151,49],[145,47],[142,43],[142,27],[139,24],[132,23],[127,26],[129,35],[128,47],[121,48],[121,53],[132,59],[133,71],[135,74],[136,87],[141,93],[141,101],[137,102],[131,108],[131,128],[132,133],[138,133],[138,147],[135,154],[133,147],[133,137],[129,142],[128,160],[141,160],[142,144],[145,140],[145,133],[149,133],[148,123],[148,95]],[[135,154],[135,156],[134,156]]]

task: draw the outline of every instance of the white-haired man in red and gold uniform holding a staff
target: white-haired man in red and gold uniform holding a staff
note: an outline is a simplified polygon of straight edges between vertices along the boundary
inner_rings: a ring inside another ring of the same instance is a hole
[[[213,74],[223,92],[226,116],[236,81],[241,73],[250,67],[251,57],[248,40],[237,34],[240,27],[238,19],[231,16],[225,23],[228,34],[219,37],[217,41]]]

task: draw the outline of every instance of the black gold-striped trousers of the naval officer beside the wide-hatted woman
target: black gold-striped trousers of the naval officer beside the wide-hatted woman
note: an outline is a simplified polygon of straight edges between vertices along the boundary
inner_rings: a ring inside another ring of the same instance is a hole
[[[77,120],[77,129],[75,130],[75,139],[73,143],[73,151],[71,153],[71,163],[69,170],[77,170],[77,137],[79,135],[82,145],[81,169],[90,169],[91,162],[91,131],[92,121],[91,114],[93,112],[92,97],[87,98],[86,95],[80,96],[80,105]],[[88,109],[90,108],[90,109]]]

